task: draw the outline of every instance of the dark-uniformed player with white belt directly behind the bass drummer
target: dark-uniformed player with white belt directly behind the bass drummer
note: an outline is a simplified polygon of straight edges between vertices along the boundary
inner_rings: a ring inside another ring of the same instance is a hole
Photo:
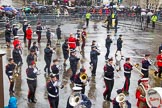
[[[141,72],[144,74],[143,78],[148,78],[148,76],[149,76],[149,66],[151,66],[149,57],[150,57],[150,54],[145,54],[145,57],[142,60]]]

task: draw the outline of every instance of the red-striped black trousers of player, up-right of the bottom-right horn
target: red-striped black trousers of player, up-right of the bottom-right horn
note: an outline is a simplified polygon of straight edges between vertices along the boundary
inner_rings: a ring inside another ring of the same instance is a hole
[[[124,73],[124,76],[125,76],[125,83],[124,83],[123,90],[128,92],[130,86],[131,73]]]

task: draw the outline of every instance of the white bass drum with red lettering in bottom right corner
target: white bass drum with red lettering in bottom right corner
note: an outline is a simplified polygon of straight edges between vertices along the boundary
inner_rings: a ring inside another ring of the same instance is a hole
[[[162,88],[151,88],[146,92],[146,102],[150,108],[162,108]]]

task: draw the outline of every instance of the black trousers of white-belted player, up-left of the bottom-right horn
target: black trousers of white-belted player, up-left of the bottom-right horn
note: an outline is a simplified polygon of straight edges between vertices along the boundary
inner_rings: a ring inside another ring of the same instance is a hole
[[[103,96],[106,96],[107,100],[110,100],[111,92],[114,87],[114,79],[113,80],[106,80],[104,79],[106,90],[103,93]]]

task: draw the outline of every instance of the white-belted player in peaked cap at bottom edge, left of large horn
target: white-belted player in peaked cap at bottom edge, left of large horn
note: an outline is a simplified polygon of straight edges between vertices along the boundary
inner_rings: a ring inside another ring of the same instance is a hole
[[[48,100],[50,108],[58,108],[59,104],[59,87],[62,89],[64,86],[60,86],[58,75],[51,73],[51,80],[47,82]]]

